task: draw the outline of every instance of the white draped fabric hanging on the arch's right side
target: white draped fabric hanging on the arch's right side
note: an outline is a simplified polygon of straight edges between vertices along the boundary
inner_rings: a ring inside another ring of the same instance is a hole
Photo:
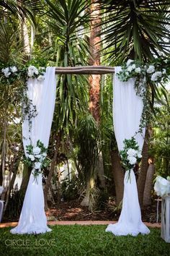
[[[115,67],[113,119],[117,146],[119,150],[122,150],[123,141],[130,139],[135,132],[138,132],[143,101],[135,93],[135,79],[131,78],[128,82],[121,82],[118,79],[116,74],[120,70],[121,67]],[[144,132],[145,129],[143,129],[143,136],[135,135],[140,150],[143,148]],[[141,221],[138,190],[133,170],[130,171],[130,179],[128,179],[128,171],[125,172],[122,211],[119,221],[109,224],[106,231],[110,231],[116,236],[128,234],[137,236],[139,233],[148,234],[150,232]]]

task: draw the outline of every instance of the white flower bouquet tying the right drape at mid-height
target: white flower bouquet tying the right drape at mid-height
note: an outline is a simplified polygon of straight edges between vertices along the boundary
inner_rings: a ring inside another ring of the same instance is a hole
[[[123,150],[120,150],[121,162],[125,171],[130,171],[140,162],[142,155],[134,137],[130,140],[124,140],[123,143]]]

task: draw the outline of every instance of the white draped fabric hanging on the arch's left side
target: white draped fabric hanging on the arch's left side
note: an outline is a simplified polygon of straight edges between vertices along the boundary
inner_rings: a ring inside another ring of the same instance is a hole
[[[53,121],[55,107],[55,67],[48,67],[45,72],[45,80],[38,81],[30,78],[27,82],[28,95],[36,106],[37,116],[32,118],[32,127],[29,132],[28,120],[22,125],[24,153],[26,145],[37,145],[40,140],[46,148],[50,137],[50,129]],[[31,174],[24,197],[22,212],[18,226],[11,230],[12,234],[40,234],[51,231],[47,226],[47,218],[44,210],[44,195],[42,189],[42,175],[37,179]]]

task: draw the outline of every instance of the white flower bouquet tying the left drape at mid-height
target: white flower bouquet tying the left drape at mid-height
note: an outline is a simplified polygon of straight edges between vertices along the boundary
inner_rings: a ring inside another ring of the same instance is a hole
[[[41,173],[41,168],[48,167],[50,163],[46,158],[47,148],[45,148],[40,140],[37,140],[37,145],[35,147],[27,145],[26,149],[27,158],[24,158],[24,162],[32,167],[32,174],[36,178]]]

